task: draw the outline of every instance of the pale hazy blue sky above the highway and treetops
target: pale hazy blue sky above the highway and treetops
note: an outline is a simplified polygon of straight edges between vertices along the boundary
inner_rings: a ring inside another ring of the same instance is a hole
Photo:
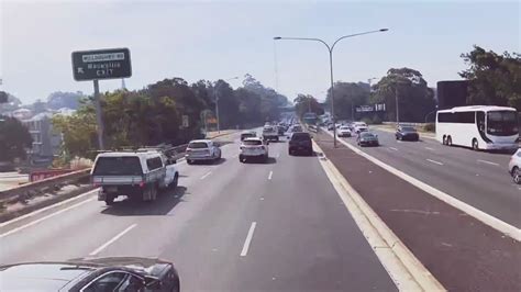
[[[128,47],[141,89],[173,77],[188,82],[251,74],[292,100],[324,99],[328,43],[334,48],[335,81],[367,81],[389,68],[419,70],[430,87],[461,79],[462,53],[479,45],[520,53],[519,1],[7,1],[0,0],[0,90],[23,103],[54,91],[91,94],[91,81],[73,79],[74,50]],[[121,80],[100,81],[101,91]]]

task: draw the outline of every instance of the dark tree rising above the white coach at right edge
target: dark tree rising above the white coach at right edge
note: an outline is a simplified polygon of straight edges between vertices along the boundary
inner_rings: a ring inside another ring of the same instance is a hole
[[[468,104],[494,104],[521,110],[521,55],[498,55],[479,46],[461,57],[469,66],[459,76],[469,80]]]

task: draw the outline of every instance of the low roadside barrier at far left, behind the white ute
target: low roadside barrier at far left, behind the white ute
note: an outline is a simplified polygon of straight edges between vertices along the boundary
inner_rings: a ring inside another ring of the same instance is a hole
[[[35,182],[29,182],[13,189],[1,191],[0,204],[29,199],[38,193],[56,190],[64,184],[76,182],[78,179],[87,178],[89,173],[90,168],[87,168]]]

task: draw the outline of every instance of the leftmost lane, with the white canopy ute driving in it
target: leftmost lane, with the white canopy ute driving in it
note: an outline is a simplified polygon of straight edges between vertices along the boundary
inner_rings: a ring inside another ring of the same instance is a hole
[[[236,150],[232,145],[223,147],[223,155],[230,155],[228,158],[234,153]],[[136,204],[123,200],[108,207],[96,200],[96,193],[91,193],[81,200],[52,207],[13,224],[4,224],[0,228],[0,262],[66,260],[89,256],[114,235],[133,224],[138,225],[145,216],[168,215],[180,202],[187,187],[200,184],[204,171],[222,166],[225,161],[224,158],[221,164],[201,167],[178,164],[180,187],[175,191],[167,190],[153,203]],[[114,216],[122,214],[124,216]],[[41,222],[32,225],[38,221]],[[59,248],[56,248],[58,243]],[[145,251],[141,255],[152,255],[149,250]]]

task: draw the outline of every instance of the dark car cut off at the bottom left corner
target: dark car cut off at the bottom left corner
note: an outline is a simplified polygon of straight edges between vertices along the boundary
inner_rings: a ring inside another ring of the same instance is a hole
[[[179,291],[179,276],[149,258],[25,262],[0,266],[0,291]]]

